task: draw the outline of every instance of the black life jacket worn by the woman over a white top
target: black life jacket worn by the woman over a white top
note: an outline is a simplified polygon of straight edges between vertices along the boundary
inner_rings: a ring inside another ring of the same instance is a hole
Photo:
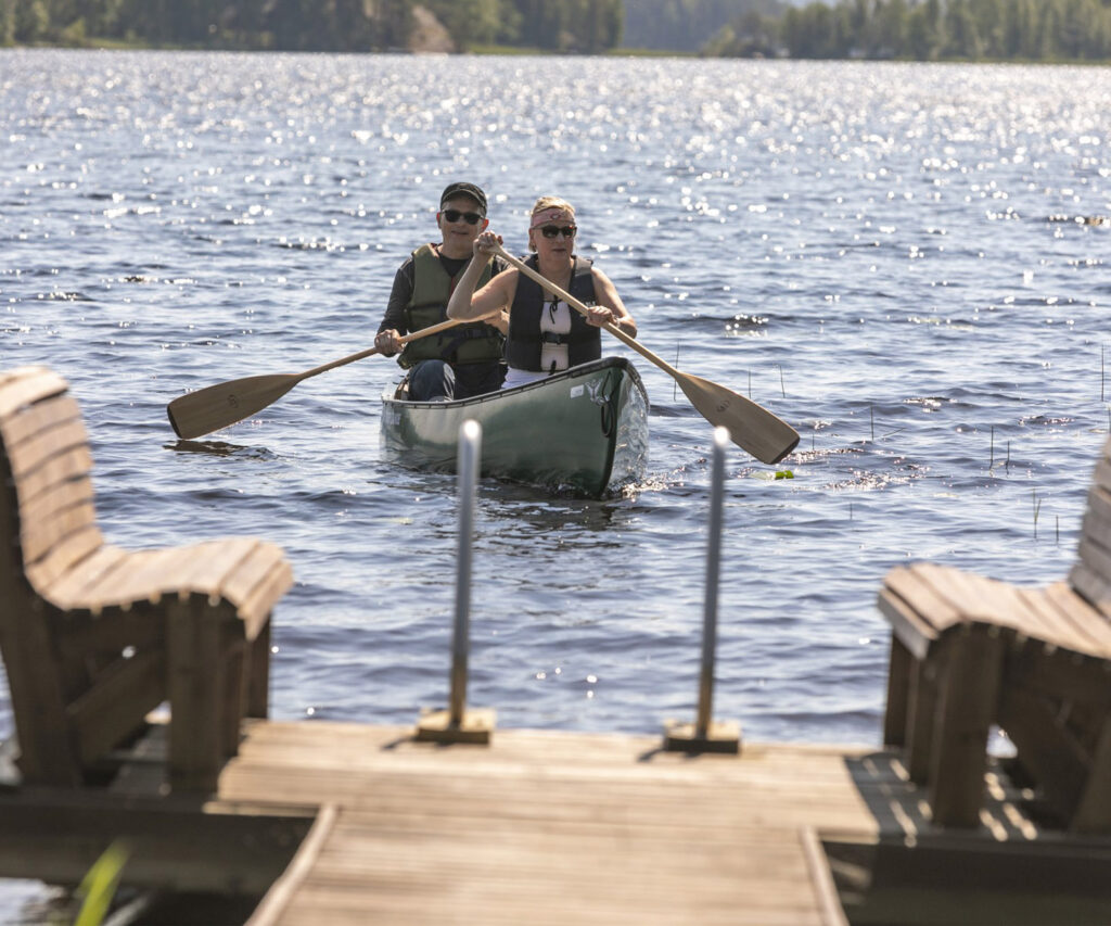
[[[529,257],[526,263],[533,270],[539,261],[536,255]],[[588,306],[595,301],[594,278],[591,275],[592,261],[575,257],[571,271],[571,283],[568,292],[580,302]],[[568,347],[568,364],[577,367],[588,364],[602,356],[601,329],[588,325],[584,316],[571,308],[571,330],[565,335],[554,335],[540,330],[540,317],[554,297],[543,289],[531,277],[519,273],[517,278],[517,295],[509,311],[509,338],[506,341],[506,359],[509,366],[519,370],[539,371],[540,352],[546,341],[565,343]],[[544,370],[551,372],[551,370]]]

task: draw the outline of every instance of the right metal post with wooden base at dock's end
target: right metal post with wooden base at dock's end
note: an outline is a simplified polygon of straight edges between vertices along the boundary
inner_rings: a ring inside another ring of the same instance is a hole
[[[739,753],[740,726],[713,719],[713,666],[718,648],[718,586],[721,577],[721,528],[725,498],[725,428],[713,429],[710,470],[710,530],[705,556],[705,599],[702,609],[702,660],[699,674],[698,715],[693,725],[664,725],[663,748],[684,753]]]

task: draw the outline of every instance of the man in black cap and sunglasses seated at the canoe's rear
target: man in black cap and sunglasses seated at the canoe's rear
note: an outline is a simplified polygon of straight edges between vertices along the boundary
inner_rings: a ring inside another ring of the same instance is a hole
[[[489,225],[486,193],[473,183],[449,183],[440,196],[436,222],[442,240],[421,245],[398,269],[374,338],[374,347],[387,357],[401,351],[398,362],[409,370],[408,398],[412,401],[448,401],[493,392],[506,375],[502,352],[509,320],[504,312],[406,345],[399,340],[402,335],[447,320],[451,291],[471,260],[474,239]],[[506,266],[501,259],[492,261],[481,282]]]

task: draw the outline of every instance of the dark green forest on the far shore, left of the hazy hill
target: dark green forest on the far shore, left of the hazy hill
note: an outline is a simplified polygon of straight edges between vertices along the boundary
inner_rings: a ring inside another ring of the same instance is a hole
[[[619,44],[623,22],[622,0],[0,0],[0,44],[401,50],[418,8],[436,16],[457,50],[599,53]]]

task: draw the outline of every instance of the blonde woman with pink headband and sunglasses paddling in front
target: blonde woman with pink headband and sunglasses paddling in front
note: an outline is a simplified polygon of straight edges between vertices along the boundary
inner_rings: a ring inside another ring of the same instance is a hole
[[[574,256],[574,207],[546,196],[532,207],[526,261],[541,276],[587,303],[583,317],[516,268],[499,273],[478,292],[474,286],[501,236],[483,231],[474,240],[472,260],[448,302],[448,317],[472,321],[501,310],[509,312],[503,389],[542,379],[602,356],[603,325],[617,325],[637,336],[637,322],[621,302],[610,278],[591,261]]]

